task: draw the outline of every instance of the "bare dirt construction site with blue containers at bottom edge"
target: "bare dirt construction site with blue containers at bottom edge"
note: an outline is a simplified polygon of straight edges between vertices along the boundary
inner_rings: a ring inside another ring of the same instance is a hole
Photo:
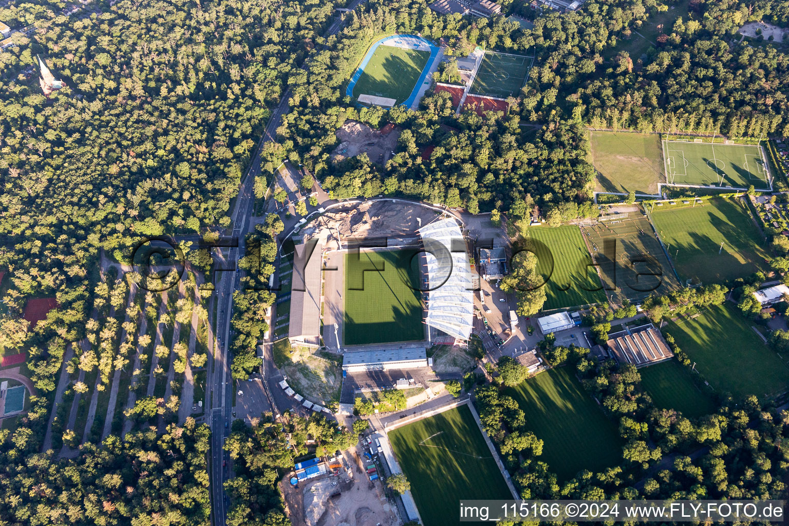
[[[285,497],[288,517],[294,526],[395,526],[400,524],[394,506],[383,495],[380,480],[370,481],[357,448],[343,453],[353,470],[348,477],[319,476],[294,488],[286,475],[280,487]],[[333,496],[337,495],[337,496]]]

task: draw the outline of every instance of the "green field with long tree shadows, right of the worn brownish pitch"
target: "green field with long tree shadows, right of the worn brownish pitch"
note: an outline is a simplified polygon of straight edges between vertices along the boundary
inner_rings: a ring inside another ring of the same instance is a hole
[[[676,203],[654,207],[652,220],[682,280],[720,283],[768,267],[764,240],[742,201],[720,197],[695,206]]]

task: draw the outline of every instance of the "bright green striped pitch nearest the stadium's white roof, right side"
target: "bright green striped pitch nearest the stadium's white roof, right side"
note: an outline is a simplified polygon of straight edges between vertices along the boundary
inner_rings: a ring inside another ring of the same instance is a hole
[[[605,301],[600,278],[594,267],[589,267],[592,258],[577,226],[535,226],[528,233],[532,241],[539,242],[535,244],[537,271],[548,282],[544,309]]]

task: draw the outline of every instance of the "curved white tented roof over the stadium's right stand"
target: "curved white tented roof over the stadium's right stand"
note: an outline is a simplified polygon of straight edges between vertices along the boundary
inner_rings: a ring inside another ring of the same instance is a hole
[[[471,267],[463,233],[454,219],[419,229],[428,263],[428,326],[468,340],[474,315]],[[452,252],[452,244],[458,252]]]

